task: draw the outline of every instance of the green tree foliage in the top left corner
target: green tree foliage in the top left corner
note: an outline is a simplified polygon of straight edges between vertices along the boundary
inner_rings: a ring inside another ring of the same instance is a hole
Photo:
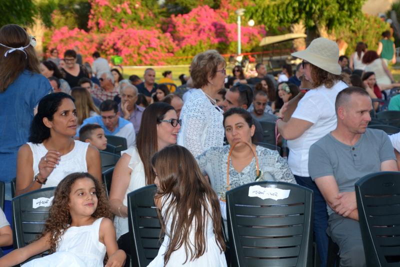
[[[6,24],[33,24],[35,7],[33,0],[0,0],[0,27]]]

